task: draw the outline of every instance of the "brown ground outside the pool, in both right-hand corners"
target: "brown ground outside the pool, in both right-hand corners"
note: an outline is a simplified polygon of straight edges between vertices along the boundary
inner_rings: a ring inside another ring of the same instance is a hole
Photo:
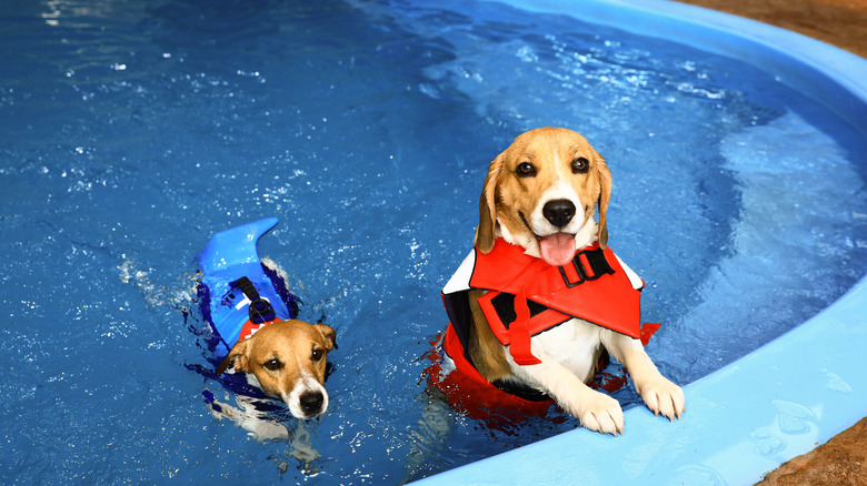
[[[747,17],[867,58],[867,0],[679,0]],[[867,418],[768,473],[759,486],[867,486]]]

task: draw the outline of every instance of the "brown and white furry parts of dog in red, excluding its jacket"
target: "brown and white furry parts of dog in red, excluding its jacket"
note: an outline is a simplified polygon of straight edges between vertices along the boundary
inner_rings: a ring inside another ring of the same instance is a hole
[[[522,133],[490,164],[479,203],[476,245],[488,253],[501,236],[528,255],[561,266],[577,249],[596,240],[607,245],[610,194],[608,166],[584,136],[558,128]],[[597,206],[598,223],[594,217]],[[604,347],[629,371],[650,411],[670,421],[680,418],[682,391],[657,371],[639,340],[572,318],[532,337],[531,351],[541,364],[518,365],[478,308],[480,291],[474,292],[468,347],[488,381],[524,382],[548,393],[584,427],[622,434],[620,404],[586,385]]]

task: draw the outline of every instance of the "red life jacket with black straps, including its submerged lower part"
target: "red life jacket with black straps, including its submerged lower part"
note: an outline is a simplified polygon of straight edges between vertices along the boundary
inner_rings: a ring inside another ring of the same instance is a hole
[[[527,387],[516,388],[512,382],[490,383],[476,369],[466,352],[472,326],[467,292],[489,291],[478,302],[495,335],[510,346],[516,363],[535,364],[538,358],[530,353],[530,337],[572,317],[647,344],[659,324],[640,324],[642,287],[641,279],[610,249],[601,250],[598,245],[577,251],[572,264],[565,267],[550,266],[502,239],[487,254],[474,249],[442,290],[449,325],[441,345],[457,373],[444,376],[439,365],[434,365],[427,371],[428,379],[465,409],[488,408],[497,403],[501,405],[496,407],[499,411],[544,415],[552,403],[544,399],[547,396]],[[605,362],[597,368],[604,369]],[[614,392],[626,382],[625,376],[604,375],[607,374],[597,374],[591,386]],[[464,399],[466,394],[472,395],[472,399]],[[482,415],[487,414],[482,411]]]

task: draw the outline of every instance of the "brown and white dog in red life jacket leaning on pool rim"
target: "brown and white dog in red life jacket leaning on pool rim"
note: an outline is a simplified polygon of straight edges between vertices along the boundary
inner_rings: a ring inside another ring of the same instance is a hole
[[[490,163],[476,247],[444,288],[444,345],[500,389],[541,392],[584,427],[617,435],[620,404],[587,385],[604,351],[656,415],[680,418],[685,399],[640,341],[644,282],[607,246],[610,194],[606,161],[580,134],[518,135]]]

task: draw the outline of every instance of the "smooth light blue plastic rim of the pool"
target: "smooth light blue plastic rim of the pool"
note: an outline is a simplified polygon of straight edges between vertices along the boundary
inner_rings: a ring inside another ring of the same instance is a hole
[[[867,136],[867,61],[764,23],[659,0],[512,0],[527,11],[665,38],[739,59],[834,110]],[[867,279],[818,315],[685,387],[671,424],[645,407],[627,432],[574,431],[421,484],[754,484],[867,415]]]

